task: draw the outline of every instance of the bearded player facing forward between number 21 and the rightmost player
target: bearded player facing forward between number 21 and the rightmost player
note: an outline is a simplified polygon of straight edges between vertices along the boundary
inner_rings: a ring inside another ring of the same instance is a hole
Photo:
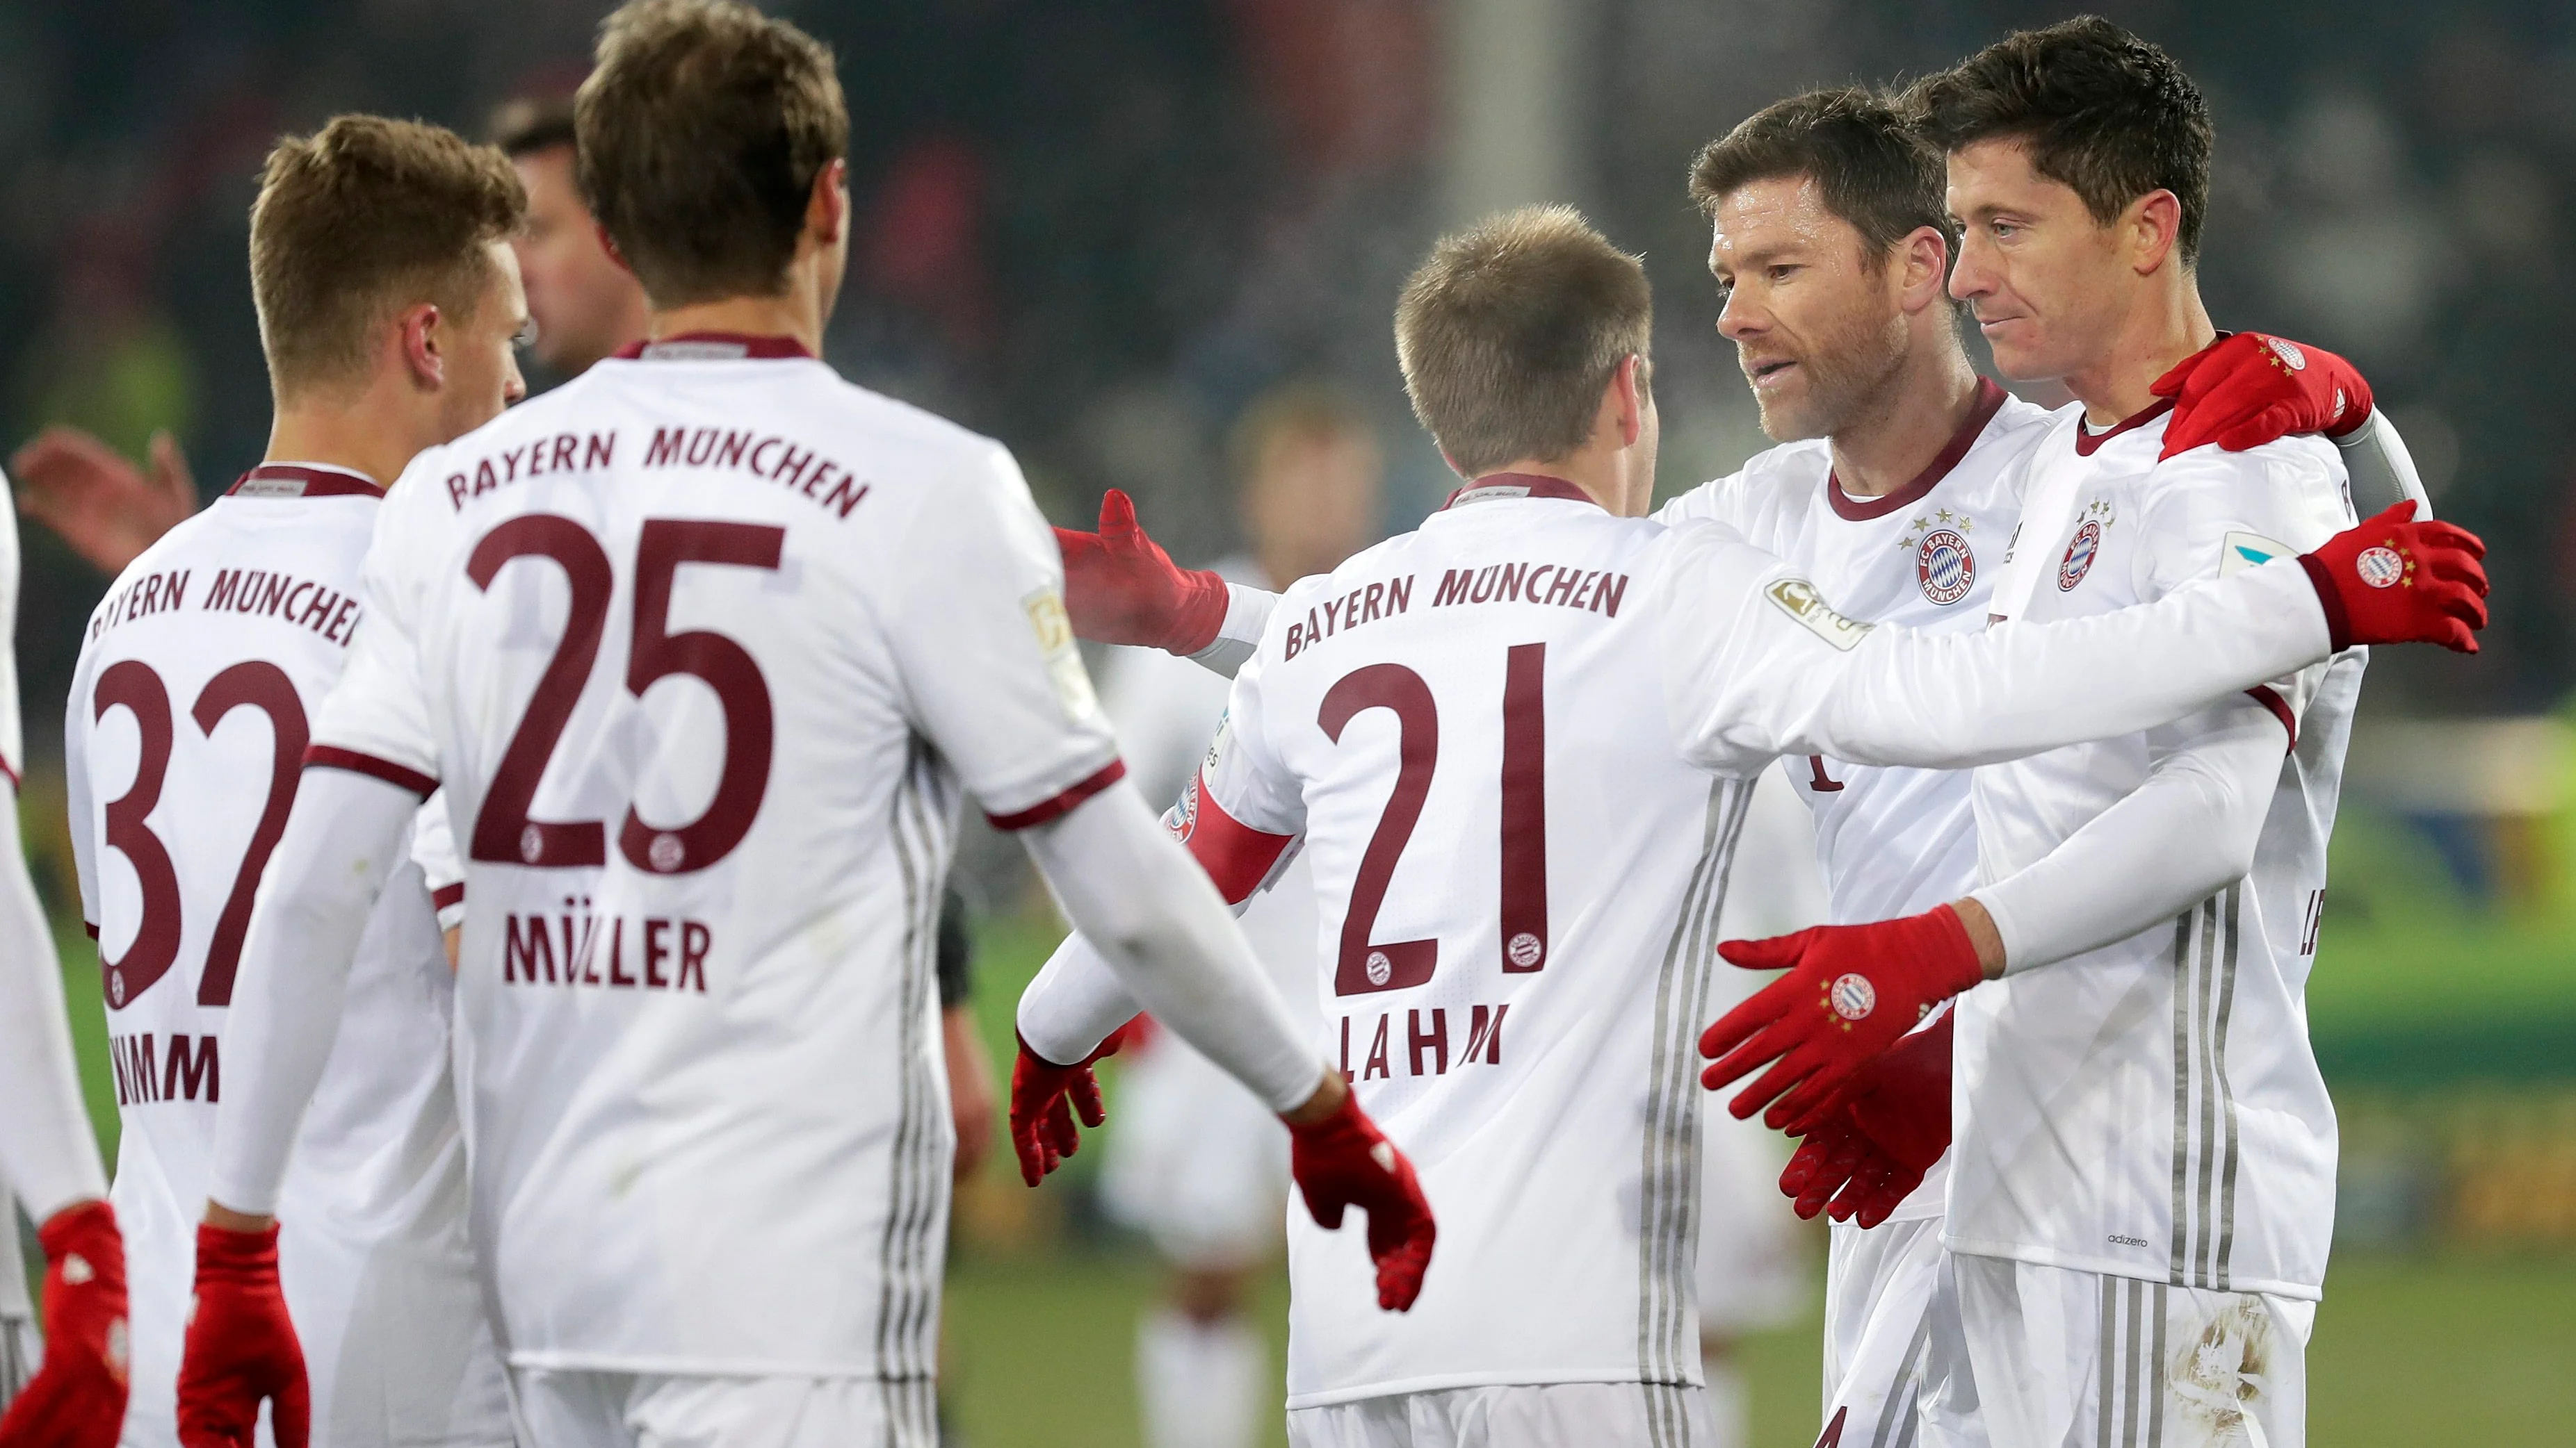
[[[2020,464],[2048,423],[2040,407],[1981,381],[1965,358],[1942,296],[1955,232],[1940,191],[1940,155],[1862,90],[1780,100],[1700,152],[1692,196],[1713,222],[1710,268],[1726,301],[1718,327],[1739,345],[1765,430],[1788,446],[1656,513],[1667,523],[1726,520],[1811,569],[1852,616],[1927,631],[1984,626],[1999,554],[2020,520]],[[2177,368],[2179,423],[2231,446],[2339,425],[2357,477],[2385,479],[2383,500],[2398,500],[2411,469],[2401,451],[2380,456],[2393,433],[2375,415],[2352,415],[2367,407],[2362,379],[2324,350],[2311,350],[2303,374],[2226,366],[2239,353],[2269,356],[2257,348],[2244,338],[2218,353],[2215,368]],[[1218,657],[1226,639],[1257,636],[1267,618],[1267,598],[1208,575],[1170,575],[1146,544],[1126,549],[1121,564],[1090,533],[1059,538],[1069,559],[1092,564],[1074,575],[1077,629],[1185,631],[1157,600],[1195,595],[1213,603],[1203,629],[1224,618],[1221,636],[1164,642]],[[1832,920],[1929,910],[1976,884],[1965,773],[1814,757],[1793,760],[1785,776],[1816,814]],[[1947,1036],[1924,1046],[1945,1049]],[[1945,1056],[1932,1067],[1945,1069]],[[1873,1123],[1888,1116],[1886,1126],[1909,1141],[1932,1131],[1937,1157],[1945,1113],[1922,1123],[1919,1113],[1888,1110]],[[1839,1144],[1847,1131],[1837,1121],[1811,1147]],[[1901,1206],[1865,1214],[1870,1224],[1893,1214],[1886,1226],[1834,1226],[1826,1433],[1844,1422],[1862,1440],[1891,1438],[1911,1415],[1942,1206],[1940,1167],[1917,1162],[1924,1167],[1917,1190],[1893,1193]],[[1842,1177],[1819,1185],[1821,1196],[1803,1203],[1808,1214]],[[1837,1216],[1850,1208],[1837,1206]],[[1703,1309],[1710,1270],[1762,1242],[1716,1242],[1710,1232],[1726,1226],[1708,1214]],[[1726,1299],[1716,1301],[1723,1309]]]

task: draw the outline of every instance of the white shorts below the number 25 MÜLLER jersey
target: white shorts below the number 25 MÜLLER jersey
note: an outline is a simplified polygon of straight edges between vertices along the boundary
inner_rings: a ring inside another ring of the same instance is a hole
[[[531,1448],[938,1448],[930,1378],[510,1368]]]

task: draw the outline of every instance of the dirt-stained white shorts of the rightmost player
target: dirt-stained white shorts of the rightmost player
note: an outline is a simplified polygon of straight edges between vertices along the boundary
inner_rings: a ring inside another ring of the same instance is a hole
[[[2303,1448],[2313,1327],[2313,1301],[1945,1252],[1922,1443]]]

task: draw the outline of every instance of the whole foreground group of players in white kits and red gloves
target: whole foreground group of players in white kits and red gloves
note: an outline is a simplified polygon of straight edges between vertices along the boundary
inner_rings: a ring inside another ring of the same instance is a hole
[[[1025,1177],[1139,1015],[1285,1121],[1301,1445],[1710,1443],[1700,1098],[1747,1077],[1837,1219],[1821,1443],[2303,1440],[2344,737],[2365,647],[2473,649],[2486,580],[2349,366],[2210,325],[2164,52],[2074,21],[1703,149],[1783,446],[1654,513],[1636,258],[1445,237],[1396,350],[1463,487],[1278,593],[1121,495],[1051,536],[817,361],[848,116],[793,26],[636,0],[574,129],[649,340],[515,407],[510,160],[268,160],[268,461],[131,559],[67,714],[113,1196],[0,871],[46,1247],[0,1443],[933,1443],[969,796],[1074,925]],[[1162,822],[1077,634],[1231,678]],[[1721,943],[1783,757],[1834,922]],[[1311,1010],[1234,922],[1291,871]],[[1721,961],[1785,974],[1710,1023]]]

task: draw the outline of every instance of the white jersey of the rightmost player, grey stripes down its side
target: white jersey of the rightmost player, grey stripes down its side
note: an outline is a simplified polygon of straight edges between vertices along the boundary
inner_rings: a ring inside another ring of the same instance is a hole
[[[2081,410],[2048,428],[1999,616],[2107,613],[2352,526],[2334,443],[2159,461],[2166,407],[2107,433]],[[2318,1296],[2334,1105],[2308,1049],[2306,984],[2365,662],[2352,649],[2249,691],[2295,745],[2246,879],[2169,925],[1960,997],[1953,1250]],[[1976,770],[1984,879],[2040,861],[2138,788],[2159,737]]]

